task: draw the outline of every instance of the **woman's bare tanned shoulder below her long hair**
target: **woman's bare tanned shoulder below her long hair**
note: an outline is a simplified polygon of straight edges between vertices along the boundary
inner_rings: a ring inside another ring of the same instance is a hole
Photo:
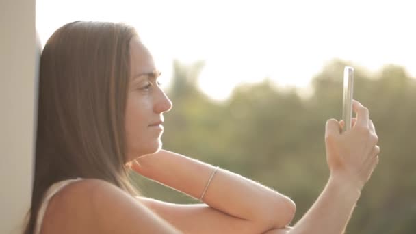
[[[99,179],[70,183],[49,202],[42,233],[174,233],[120,188]]]

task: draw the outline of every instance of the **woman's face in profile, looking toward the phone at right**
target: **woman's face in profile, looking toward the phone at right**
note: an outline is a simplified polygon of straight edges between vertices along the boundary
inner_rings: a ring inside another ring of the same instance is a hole
[[[157,77],[153,57],[138,38],[132,38],[125,119],[129,161],[161,148],[163,114],[172,108],[172,102],[161,90]]]

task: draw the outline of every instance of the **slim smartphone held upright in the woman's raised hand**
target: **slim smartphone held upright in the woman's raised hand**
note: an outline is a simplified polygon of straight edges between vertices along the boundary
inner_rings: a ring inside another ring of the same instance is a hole
[[[354,68],[346,66],[343,69],[343,99],[342,119],[345,122],[342,131],[351,129],[352,119],[352,93],[354,89]]]

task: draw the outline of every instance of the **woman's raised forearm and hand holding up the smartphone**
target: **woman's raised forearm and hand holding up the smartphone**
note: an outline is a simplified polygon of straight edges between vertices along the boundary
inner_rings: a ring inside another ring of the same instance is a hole
[[[290,234],[343,233],[361,189],[378,164],[380,148],[369,112],[354,101],[357,114],[351,131],[340,133],[337,120],[326,123],[326,157],[330,179],[311,209],[288,231]],[[270,230],[268,234],[281,233]]]

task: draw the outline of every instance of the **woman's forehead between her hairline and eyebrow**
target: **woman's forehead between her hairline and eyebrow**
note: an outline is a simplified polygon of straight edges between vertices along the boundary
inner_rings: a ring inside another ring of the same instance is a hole
[[[151,53],[138,38],[130,41],[130,71],[131,75],[150,73],[155,70],[155,62]]]

